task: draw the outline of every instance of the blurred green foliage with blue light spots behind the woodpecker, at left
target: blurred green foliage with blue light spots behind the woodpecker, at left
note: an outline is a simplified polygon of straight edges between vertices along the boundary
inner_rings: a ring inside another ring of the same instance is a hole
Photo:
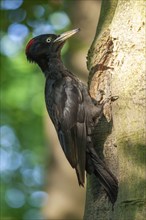
[[[44,77],[37,66],[27,62],[25,45],[40,26],[43,27],[40,33],[38,30],[39,34],[47,33],[48,27],[55,33],[67,30],[71,24],[64,11],[66,7],[67,1],[1,1],[0,175],[3,220],[43,219],[41,207],[48,198],[44,191],[44,170],[45,161],[49,160],[43,131]],[[14,24],[23,25],[27,30],[25,36],[18,36],[21,26],[15,31]],[[66,51],[67,47],[64,53]]]

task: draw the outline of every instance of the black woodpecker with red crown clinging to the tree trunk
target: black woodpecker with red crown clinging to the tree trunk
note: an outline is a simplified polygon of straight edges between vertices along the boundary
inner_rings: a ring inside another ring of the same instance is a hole
[[[78,31],[34,37],[26,46],[26,57],[38,64],[45,75],[46,108],[65,156],[76,171],[79,185],[84,186],[85,171],[95,174],[114,204],[117,178],[99,158],[91,139],[94,123],[103,115],[103,104],[93,102],[87,86],[61,60],[64,43]]]

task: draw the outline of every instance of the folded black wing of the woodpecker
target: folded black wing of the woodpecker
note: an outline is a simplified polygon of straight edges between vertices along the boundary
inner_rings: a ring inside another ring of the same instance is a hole
[[[58,81],[54,90],[55,127],[63,151],[84,184],[86,156],[86,115],[82,92],[74,79]]]

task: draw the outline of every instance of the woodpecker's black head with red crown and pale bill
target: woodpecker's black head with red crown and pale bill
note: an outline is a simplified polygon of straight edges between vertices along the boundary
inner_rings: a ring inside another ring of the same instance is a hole
[[[61,35],[43,34],[32,38],[25,50],[27,59],[39,64],[46,59],[60,57],[60,51],[65,41],[78,31],[79,28],[67,31]]]

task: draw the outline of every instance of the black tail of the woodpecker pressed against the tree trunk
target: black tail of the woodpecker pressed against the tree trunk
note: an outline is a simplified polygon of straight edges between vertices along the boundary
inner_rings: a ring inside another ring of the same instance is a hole
[[[118,180],[107,165],[98,157],[94,148],[89,149],[90,160],[94,174],[99,178],[112,204],[117,200]]]

